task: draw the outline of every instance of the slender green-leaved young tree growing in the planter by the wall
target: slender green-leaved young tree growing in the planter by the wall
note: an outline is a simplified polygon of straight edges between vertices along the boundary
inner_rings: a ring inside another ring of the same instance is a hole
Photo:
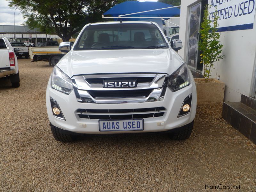
[[[213,20],[209,19],[209,5],[205,6],[204,18],[201,23],[199,41],[199,50],[201,51],[201,61],[204,64],[204,79],[207,83],[213,68],[213,63],[223,59],[224,55],[221,55],[223,45],[220,44],[220,34],[217,32],[218,24],[218,12],[215,10],[213,13]],[[212,26],[211,26],[212,23]]]

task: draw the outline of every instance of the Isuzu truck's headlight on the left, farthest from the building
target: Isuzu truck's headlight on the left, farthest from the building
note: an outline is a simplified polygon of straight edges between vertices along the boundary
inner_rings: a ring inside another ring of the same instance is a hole
[[[71,79],[57,66],[52,71],[51,87],[65,94],[73,90]]]

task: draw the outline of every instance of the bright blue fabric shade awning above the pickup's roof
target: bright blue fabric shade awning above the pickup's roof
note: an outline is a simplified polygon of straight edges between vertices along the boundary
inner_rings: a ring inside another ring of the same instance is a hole
[[[103,15],[112,15],[112,17],[118,17],[119,15],[149,11],[154,9],[161,9],[166,7],[173,7],[173,5],[169,5],[161,2],[125,1],[123,3],[115,5],[114,7],[109,9],[107,12],[105,12]],[[177,15],[180,15],[180,9],[175,7],[171,9],[163,9],[163,10],[157,10],[152,12],[132,14],[126,17],[173,17]],[[134,19],[131,19],[131,20],[134,20]]]

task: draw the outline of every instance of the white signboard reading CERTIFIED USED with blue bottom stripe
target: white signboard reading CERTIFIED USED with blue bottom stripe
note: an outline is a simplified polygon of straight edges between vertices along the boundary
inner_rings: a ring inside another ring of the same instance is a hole
[[[213,12],[217,7],[219,30],[234,31],[252,29],[256,0],[208,0],[211,6],[210,20],[213,20]]]

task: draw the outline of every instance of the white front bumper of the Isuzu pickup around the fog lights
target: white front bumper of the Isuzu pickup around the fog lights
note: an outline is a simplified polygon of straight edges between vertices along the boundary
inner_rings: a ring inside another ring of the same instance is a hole
[[[190,112],[187,115],[178,118],[183,101],[192,93],[192,103]],[[52,114],[50,97],[58,102],[65,120],[56,118]],[[145,103],[119,103],[119,104],[98,104],[98,103],[79,103],[74,90],[66,95],[51,88],[50,83],[46,91],[46,107],[51,124],[63,130],[76,133],[89,134],[109,134],[109,133],[131,133],[131,132],[163,132],[181,127],[191,123],[196,115],[196,85],[194,81],[191,84],[177,92],[171,92],[168,88],[165,92],[164,100]],[[164,107],[166,112],[164,116],[144,118],[143,131],[121,131],[121,132],[100,132],[98,119],[80,118],[77,109],[137,109],[137,108],[158,108]],[[164,122],[164,125],[157,125]],[[86,126],[86,127],[84,127]]]

